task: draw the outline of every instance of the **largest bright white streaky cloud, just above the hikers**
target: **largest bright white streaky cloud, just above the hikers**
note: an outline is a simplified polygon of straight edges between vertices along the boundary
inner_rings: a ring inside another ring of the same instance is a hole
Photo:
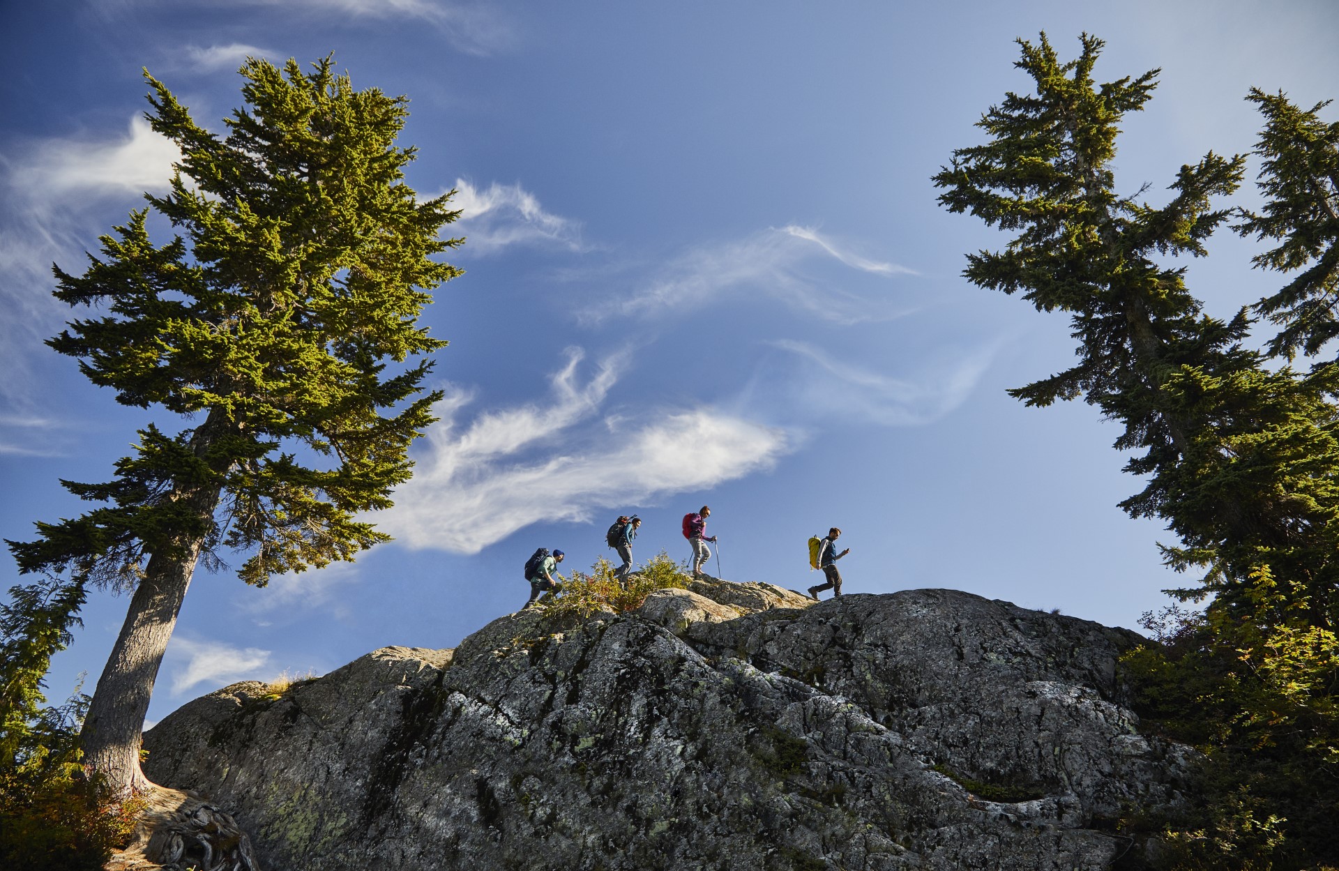
[[[714,408],[665,411],[641,423],[599,417],[621,360],[584,384],[570,349],[552,399],[487,412],[463,428],[471,396],[455,392],[424,439],[414,478],[378,526],[410,547],[474,554],[541,520],[584,520],[593,508],[645,503],[774,466],[785,432]],[[542,448],[528,451],[528,448]]]

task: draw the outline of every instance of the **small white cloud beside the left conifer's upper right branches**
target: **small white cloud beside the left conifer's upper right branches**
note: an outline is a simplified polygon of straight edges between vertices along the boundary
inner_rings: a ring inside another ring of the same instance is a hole
[[[538,198],[520,183],[475,187],[461,178],[455,181],[451,205],[461,210],[461,218],[449,231],[465,234],[469,253],[493,254],[516,245],[585,250],[581,225],[545,211]]]

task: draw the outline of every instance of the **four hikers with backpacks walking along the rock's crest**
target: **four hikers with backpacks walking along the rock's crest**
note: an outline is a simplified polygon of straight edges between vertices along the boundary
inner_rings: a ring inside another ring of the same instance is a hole
[[[707,518],[710,516],[710,506],[702,506],[700,510],[683,515],[683,537],[688,539],[688,545],[692,547],[691,573],[696,579],[707,577],[703,571],[703,567],[711,559],[711,549],[707,547],[707,542],[716,542],[715,535],[707,535]],[[632,539],[637,537],[639,528],[641,528],[641,518],[636,514],[631,516],[620,515],[609,526],[609,531],[604,537],[605,543],[623,561],[615,569],[613,577],[624,586],[628,582],[628,575],[632,574]],[[833,595],[841,595],[841,571],[837,570],[837,561],[849,554],[850,549],[848,547],[837,553],[837,538],[840,535],[841,530],[834,526],[828,530],[825,538],[819,539],[815,535],[809,539],[809,567],[821,569],[825,578],[823,583],[809,587],[809,598],[814,601],[818,599],[818,594],[823,590],[832,590]],[[557,595],[562,591],[562,583],[554,579],[554,574],[557,574],[558,563],[562,562],[564,557],[565,554],[561,550],[554,549],[549,551],[548,547],[540,547],[525,561],[525,579],[530,582],[530,598],[526,599],[525,607],[533,605],[545,593]]]

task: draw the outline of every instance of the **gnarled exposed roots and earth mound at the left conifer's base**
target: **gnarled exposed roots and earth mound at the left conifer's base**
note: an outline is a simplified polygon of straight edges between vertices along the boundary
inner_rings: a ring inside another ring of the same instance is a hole
[[[260,871],[246,832],[198,795],[153,785],[138,797],[134,840],[106,871]]]

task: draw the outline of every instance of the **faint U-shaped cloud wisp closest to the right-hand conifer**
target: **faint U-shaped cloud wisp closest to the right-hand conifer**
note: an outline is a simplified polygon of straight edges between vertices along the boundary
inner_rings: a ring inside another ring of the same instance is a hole
[[[990,344],[919,380],[908,380],[838,360],[809,343],[782,338],[766,344],[805,364],[802,375],[787,376],[782,388],[794,393],[793,408],[888,427],[932,423],[961,405],[999,349],[998,344]]]

